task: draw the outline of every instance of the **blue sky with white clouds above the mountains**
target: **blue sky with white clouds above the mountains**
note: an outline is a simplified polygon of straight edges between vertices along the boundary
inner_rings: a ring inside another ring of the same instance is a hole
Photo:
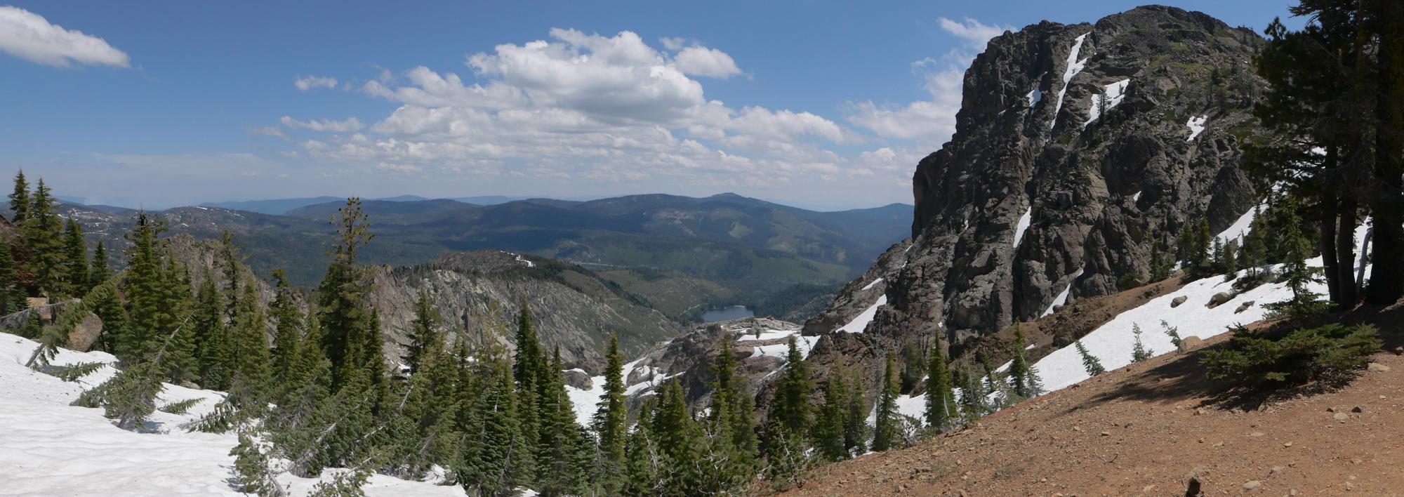
[[[911,202],[911,173],[953,132],[962,74],[991,37],[1136,4],[0,3],[0,171],[147,208]],[[1286,0],[1174,4],[1257,31],[1289,15]]]

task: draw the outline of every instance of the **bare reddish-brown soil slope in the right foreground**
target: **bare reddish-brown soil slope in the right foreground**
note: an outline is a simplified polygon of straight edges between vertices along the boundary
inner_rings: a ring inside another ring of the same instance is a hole
[[[1386,350],[1404,310],[1356,312]],[[915,446],[816,469],[795,494],[1404,496],[1404,357],[1330,392],[1228,392],[1198,351],[1112,371]],[[1358,410],[1358,411],[1356,411]]]

